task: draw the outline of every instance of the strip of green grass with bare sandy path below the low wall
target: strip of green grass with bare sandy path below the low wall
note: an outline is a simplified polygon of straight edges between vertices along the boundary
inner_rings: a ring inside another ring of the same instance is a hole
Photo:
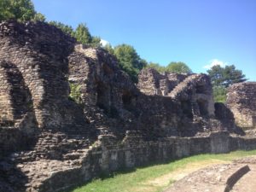
[[[113,176],[95,179],[73,192],[160,192],[190,172],[250,155],[256,155],[256,150],[195,155],[168,164],[138,167],[130,172],[116,172]]]

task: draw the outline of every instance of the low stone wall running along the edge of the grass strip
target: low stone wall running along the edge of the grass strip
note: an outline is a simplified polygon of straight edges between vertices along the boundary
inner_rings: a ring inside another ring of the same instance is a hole
[[[99,142],[93,146],[84,154],[79,167],[53,172],[39,191],[63,191],[90,181],[102,173],[168,162],[195,154],[255,149],[256,138],[230,137],[227,132],[216,132],[209,137],[170,137],[144,142],[141,137],[133,135],[125,137],[119,143],[114,137],[105,136],[99,137]]]

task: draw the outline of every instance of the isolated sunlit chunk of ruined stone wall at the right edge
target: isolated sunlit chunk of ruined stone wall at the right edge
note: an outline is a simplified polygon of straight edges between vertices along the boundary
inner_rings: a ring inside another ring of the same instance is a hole
[[[256,128],[256,83],[233,84],[228,90],[227,106],[236,119],[236,125],[244,129]]]

